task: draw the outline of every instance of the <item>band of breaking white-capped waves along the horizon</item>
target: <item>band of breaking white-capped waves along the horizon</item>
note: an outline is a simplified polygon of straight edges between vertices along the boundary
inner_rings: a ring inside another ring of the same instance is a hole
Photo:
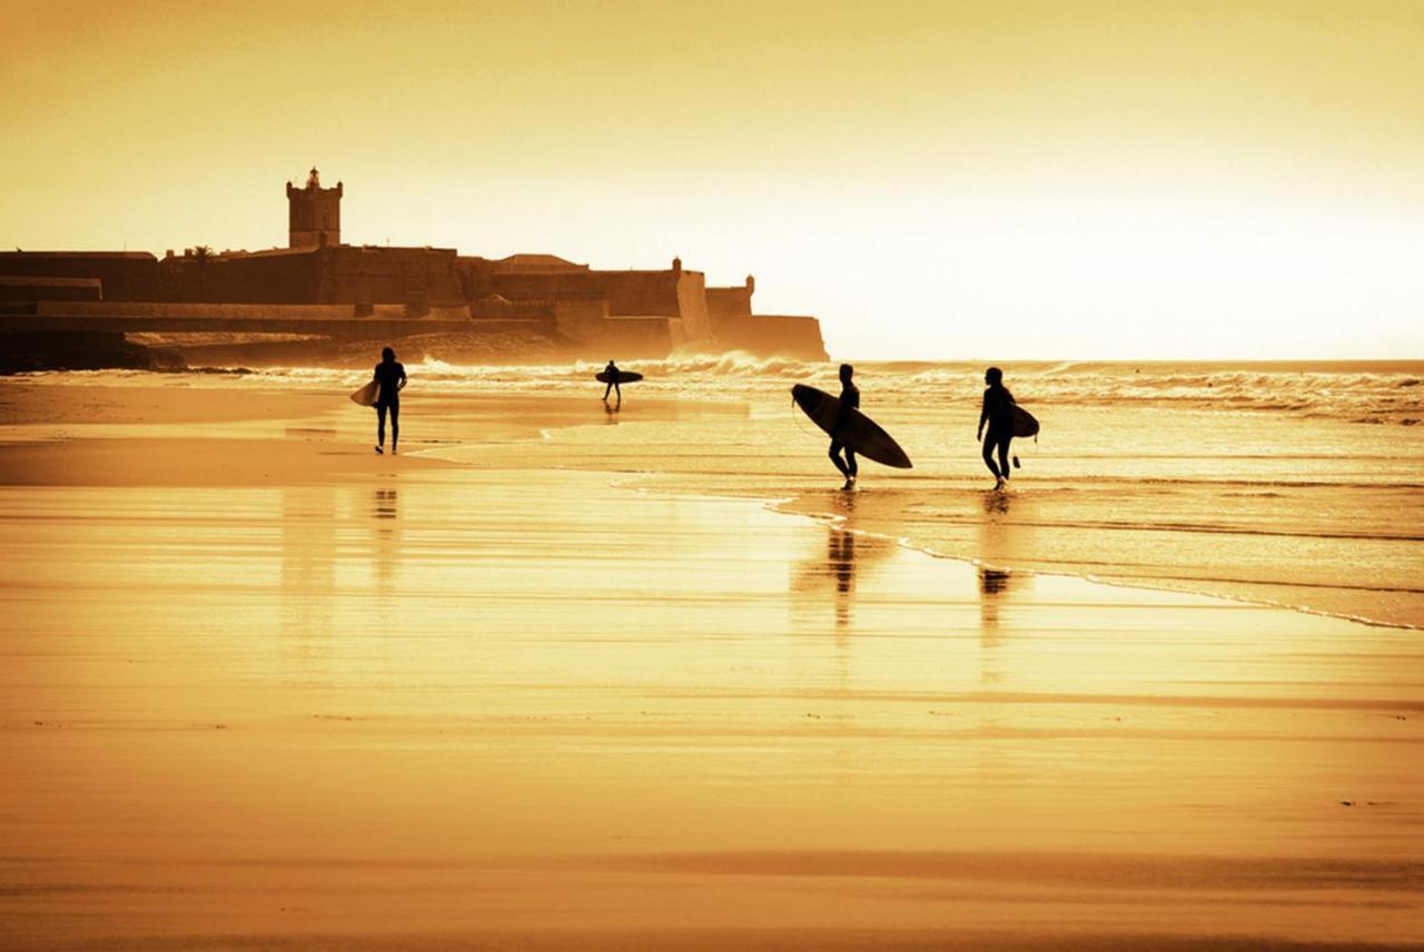
[[[347,369],[265,367],[245,376],[246,386],[349,387],[365,380],[369,364]],[[568,360],[527,364],[456,363],[426,357],[407,363],[413,380],[451,391],[568,391],[592,386],[602,361]],[[644,374],[641,390],[693,398],[780,397],[790,383],[836,387],[836,364],[790,357],[758,357],[743,351],[681,350],[668,357],[619,364]],[[1206,413],[1274,413],[1356,424],[1417,425],[1424,420],[1424,374],[1420,361],[1400,364],[1283,366],[1280,369],[1222,364],[1005,364],[1007,383],[1028,407],[1143,406]],[[141,380],[150,371],[64,371],[30,374],[53,383]],[[983,391],[983,366],[953,361],[864,361],[857,379],[876,400],[901,404],[963,403]]]

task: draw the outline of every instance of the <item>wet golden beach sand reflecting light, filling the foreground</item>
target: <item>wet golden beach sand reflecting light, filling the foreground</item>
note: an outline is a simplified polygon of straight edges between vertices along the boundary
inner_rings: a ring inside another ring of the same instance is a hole
[[[3,948],[1418,948],[1418,632],[554,468],[597,400],[57,390]]]

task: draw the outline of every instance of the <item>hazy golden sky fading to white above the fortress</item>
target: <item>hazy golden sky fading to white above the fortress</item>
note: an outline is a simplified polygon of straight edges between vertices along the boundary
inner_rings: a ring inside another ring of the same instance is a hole
[[[836,357],[1424,357],[1424,0],[0,0],[0,246],[557,253]]]

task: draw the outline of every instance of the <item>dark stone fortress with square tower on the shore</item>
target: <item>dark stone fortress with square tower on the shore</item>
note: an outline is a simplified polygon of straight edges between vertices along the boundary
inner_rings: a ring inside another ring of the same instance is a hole
[[[427,340],[436,357],[429,342],[457,339],[478,356],[481,340],[498,337],[594,360],[675,349],[826,359],[815,317],[752,313],[750,276],[708,287],[679,259],[594,270],[553,255],[345,245],[343,194],[342,182],[323,188],[315,168],[305,184],[289,182],[288,246],[271,250],[0,252],[0,334],[11,350],[84,340],[85,353],[157,340],[188,360],[300,360],[322,343],[403,337]],[[518,353],[506,346],[497,356]]]

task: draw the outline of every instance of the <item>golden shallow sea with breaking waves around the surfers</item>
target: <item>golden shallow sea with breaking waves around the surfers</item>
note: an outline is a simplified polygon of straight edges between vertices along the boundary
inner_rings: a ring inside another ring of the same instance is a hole
[[[407,363],[403,445],[488,465],[478,430],[461,431],[450,407],[572,397],[587,401],[584,417],[534,425],[501,460],[608,471],[638,491],[760,498],[995,572],[1424,625],[1424,361],[1002,361],[1005,386],[1042,427],[1015,440],[1021,465],[1004,492],[993,491],[975,440],[984,363],[854,366],[862,410],[914,468],[866,461],[853,492],[840,488],[826,437],[790,401],[795,383],[839,391],[836,363],[738,353],[619,361],[645,379],[607,407],[592,380],[602,361]],[[330,391],[333,413],[349,416],[369,411],[336,397],[367,376],[271,367],[30,377]]]

